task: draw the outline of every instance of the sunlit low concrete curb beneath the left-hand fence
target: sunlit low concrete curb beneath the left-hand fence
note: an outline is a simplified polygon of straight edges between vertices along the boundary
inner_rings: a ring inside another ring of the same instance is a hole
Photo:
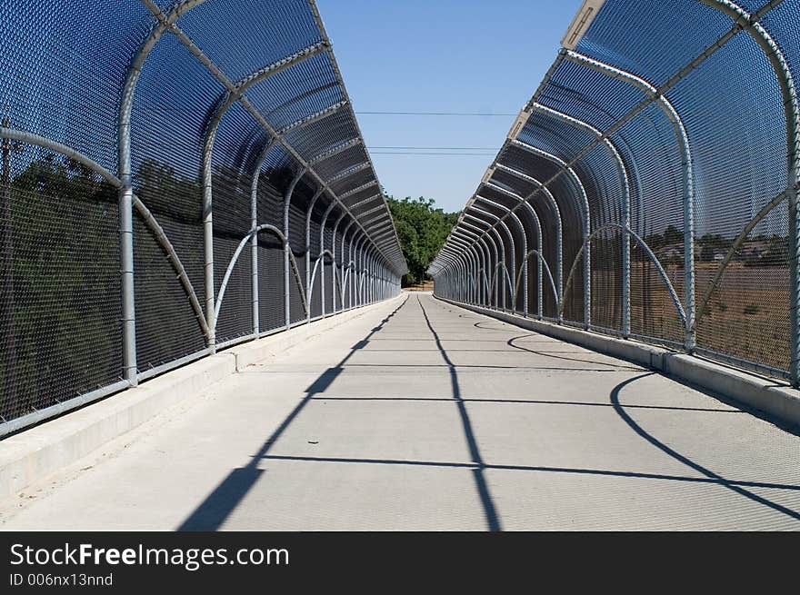
[[[171,372],[165,372],[138,387],[93,402],[0,441],[0,498],[74,463],[105,442],[135,429],[166,408],[205,391],[211,384],[241,372],[375,308],[395,302],[398,296],[302,324],[285,332],[229,347]]]

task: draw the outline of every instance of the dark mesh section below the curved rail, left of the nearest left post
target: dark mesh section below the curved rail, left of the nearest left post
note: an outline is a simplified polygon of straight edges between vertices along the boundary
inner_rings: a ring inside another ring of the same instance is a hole
[[[12,420],[119,380],[119,250],[114,187],[4,145],[0,416]]]

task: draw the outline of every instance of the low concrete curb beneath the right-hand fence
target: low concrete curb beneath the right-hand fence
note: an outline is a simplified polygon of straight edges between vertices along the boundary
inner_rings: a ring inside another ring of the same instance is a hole
[[[765,412],[775,421],[800,427],[800,391],[778,381],[632,339],[617,339],[597,332],[582,331],[552,322],[524,318],[518,314],[497,312],[481,306],[434,297],[442,302],[514,324],[525,330],[540,332],[595,352],[638,363],[656,372],[662,372],[740,402],[748,408]]]

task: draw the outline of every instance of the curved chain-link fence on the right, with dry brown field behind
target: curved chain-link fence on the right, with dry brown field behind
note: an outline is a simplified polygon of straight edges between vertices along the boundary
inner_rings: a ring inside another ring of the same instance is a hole
[[[797,386],[800,1],[585,0],[562,45],[435,292]]]

